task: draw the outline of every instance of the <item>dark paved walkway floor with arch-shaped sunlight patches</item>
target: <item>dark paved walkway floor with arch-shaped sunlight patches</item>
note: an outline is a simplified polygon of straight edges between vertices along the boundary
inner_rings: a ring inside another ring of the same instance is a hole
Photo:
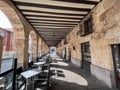
[[[51,90],[111,90],[83,69],[53,55]]]

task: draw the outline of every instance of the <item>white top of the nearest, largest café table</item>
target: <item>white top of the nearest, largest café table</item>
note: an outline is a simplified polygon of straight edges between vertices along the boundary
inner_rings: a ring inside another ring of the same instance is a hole
[[[37,74],[39,74],[41,71],[38,70],[38,69],[31,69],[31,70],[28,70],[28,71],[25,71],[23,73],[21,73],[21,75],[24,77],[24,78],[30,78],[30,77],[33,77]]]

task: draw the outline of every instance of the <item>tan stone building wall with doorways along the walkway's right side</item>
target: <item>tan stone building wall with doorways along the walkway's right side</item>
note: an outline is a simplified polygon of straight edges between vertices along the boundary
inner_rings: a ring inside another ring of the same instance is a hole
[[[57,50],[107,84],[120,85],[120,1],[102,0],[67,36]]]

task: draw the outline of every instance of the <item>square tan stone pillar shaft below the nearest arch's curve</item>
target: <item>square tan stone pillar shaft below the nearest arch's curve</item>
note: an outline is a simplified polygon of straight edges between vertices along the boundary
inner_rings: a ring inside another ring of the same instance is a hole
[[[16,58],[18,58],[18,67],[22,66],[24,70],[28,68],[28,37],[15,39]]]

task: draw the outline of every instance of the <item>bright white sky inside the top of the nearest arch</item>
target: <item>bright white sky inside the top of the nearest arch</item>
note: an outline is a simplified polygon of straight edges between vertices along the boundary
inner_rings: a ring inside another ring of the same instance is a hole
[[[5,14],[0,10],[0,28],[12,28]]]

